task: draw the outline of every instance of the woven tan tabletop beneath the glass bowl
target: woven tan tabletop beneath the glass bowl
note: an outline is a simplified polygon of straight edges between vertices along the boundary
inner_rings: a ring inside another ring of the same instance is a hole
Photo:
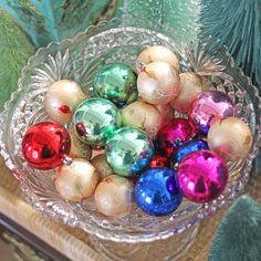
[[[60,251],[71,260],[105,261],[106,259],[90,246],[88,234],[81,229],[58,223],[29,206],[19,187],[19,181],[4,166],[0,158],[0,212],[12,219],[24,229]],[[261,201],[261,177],[252,179],[248,192]],[[208,252],[216,228],[227,209],[200,222],[199,233],[190,249],[179,259],[180,261],[207,261]],[[157,259],[160,261],[160,259]]]

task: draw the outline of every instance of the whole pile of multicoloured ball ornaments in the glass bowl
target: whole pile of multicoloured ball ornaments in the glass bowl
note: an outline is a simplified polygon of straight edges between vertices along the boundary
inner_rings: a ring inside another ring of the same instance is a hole
[[[135,201],[152,216],[170,215],[184,197],[209,202],[226,188],[227,161],[251,148],[250,128],[231,98],[210,91],[202,76],[179,72],[165,46],[143,50],[136,72],[104,65],[86,98],[70,80],[49,86],[44,106],[53,122],[31,126],[22,152],[32,167],[55,168],[64,200],[94,196],[106,217],[128,213]]]

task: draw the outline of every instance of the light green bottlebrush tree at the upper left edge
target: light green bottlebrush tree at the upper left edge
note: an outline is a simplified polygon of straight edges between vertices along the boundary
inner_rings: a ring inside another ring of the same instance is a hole
[[[33,53],[34,46],[17,21],[0,8],[0,111],[18,87],[21,69]]]

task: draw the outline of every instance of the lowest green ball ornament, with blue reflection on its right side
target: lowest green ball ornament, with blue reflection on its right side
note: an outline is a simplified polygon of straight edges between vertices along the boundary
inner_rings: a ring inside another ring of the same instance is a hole
[[[149,166],[154,149],[144,132],[133,127],[123,127],[107,139],[105,154],[116,174],[130,177]]]

